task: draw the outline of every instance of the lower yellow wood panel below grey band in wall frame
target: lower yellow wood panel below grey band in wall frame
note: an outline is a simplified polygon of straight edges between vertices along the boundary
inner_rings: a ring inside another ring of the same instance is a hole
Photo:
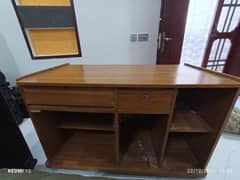
[[[31,29],[28,32],[35,56],[79,53],[75,29]]]

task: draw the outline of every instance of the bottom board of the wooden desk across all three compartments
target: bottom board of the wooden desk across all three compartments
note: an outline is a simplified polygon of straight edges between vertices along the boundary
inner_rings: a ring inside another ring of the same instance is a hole
[[[89,131],[88,131],[89,132]],[[198,168],[197,160],[182,138],[170,138],[162,165],[150,168],[131,149],[120,163],[115,161],[114,134],[78,132],[69,138],[47,162],[48,167],[105,170],[161,176],[204,177],[206,174],[188,174],[188,168]]]

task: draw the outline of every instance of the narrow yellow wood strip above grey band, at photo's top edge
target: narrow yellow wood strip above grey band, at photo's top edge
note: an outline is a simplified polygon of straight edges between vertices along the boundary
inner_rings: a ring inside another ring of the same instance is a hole
[[[19,0],[25,6],[71,6],[70,0]]]

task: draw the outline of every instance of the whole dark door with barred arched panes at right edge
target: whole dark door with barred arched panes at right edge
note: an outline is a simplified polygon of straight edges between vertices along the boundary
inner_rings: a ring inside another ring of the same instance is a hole
[[[203,67],[240,76],[240,0],[220,0]]]

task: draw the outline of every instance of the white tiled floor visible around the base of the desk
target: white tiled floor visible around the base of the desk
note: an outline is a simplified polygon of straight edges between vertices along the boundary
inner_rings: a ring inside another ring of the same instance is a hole
[[[237,106],[240,107],[240,99],[237,102]],[[30,119],[26,119],[21,125],[20,129],[31,149],[31,152],[35,158],[38,159],[36,169],[55,173],[65,174],[79,174],[84,176],[105,176],[113,177],[117,179],[179,179],[179,178],[157,178],[157,177],[143,177],[134,175],[121,175],[110,174],[98,171],[80,171],[80,170],[62,170],[62,169],[48,169],[44,166],[46,156],[41,147],[39,139],[33,128]],[[219,143],[215,149],[215,152],[209,162],[208,176],[206,180],[237,180],[240,178],[239,172],[240,164],[240,135],[233,135],[223,133]]]

